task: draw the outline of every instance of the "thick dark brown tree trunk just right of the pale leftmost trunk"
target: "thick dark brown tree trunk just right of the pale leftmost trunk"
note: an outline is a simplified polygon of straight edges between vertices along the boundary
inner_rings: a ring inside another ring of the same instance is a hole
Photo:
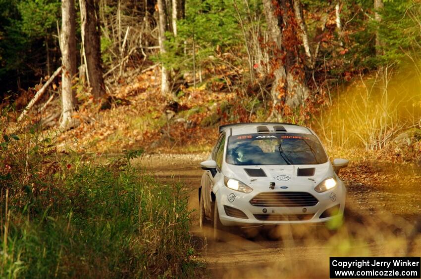
[[[101,40],[98,0],[79,0],[81,35],[86,57],[89,86],[95,99],[105,95],[103,69],[101,66]]]

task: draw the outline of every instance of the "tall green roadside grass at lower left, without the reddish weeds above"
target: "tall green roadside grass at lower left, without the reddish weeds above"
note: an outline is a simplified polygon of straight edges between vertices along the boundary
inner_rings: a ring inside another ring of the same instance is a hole
[[[192,247],[180,185],[129,166],[81,164],[61,176],[47,208],[8,208],[2,277],[186,275]]]

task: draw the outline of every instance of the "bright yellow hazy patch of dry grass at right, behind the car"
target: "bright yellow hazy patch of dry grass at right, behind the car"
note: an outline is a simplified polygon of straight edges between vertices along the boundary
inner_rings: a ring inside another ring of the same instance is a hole
[[[419,90],[419,77],[405,70],[384,67],[360,76],[315,118],[315,129],[329,148],[380,150],[419,123]]]

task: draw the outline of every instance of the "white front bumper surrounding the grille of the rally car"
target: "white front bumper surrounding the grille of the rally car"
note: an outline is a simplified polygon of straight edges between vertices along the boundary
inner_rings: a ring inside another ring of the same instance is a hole
[[[306,190],[307,191],[293,192],[310,193],[318,200],[315,205],[267,207],[254,206],[250,203],[250,200],[263,192],[267,193],[292,191],[280,191],[278,189],[265,189],[264,191],[256,191],[255,189],[250,194],[244,194],[241,192],[233,191],[227,187],[221,187],[216,193],[219,218],[222,225],[224,226],[244,227],[276,224],[316,224],[327,222],[336,216],[331,214],[332,208],[335,208],[335,213],[338,212],[338,214],[343,214],[345,208],[346,189],[342,183],[337,185],[334,189],[324,193],[317,193],[313,189]],[[236,209],[241,210],[244,215],[240,214],[238,211],[236,214],[233,214],[233,212],[235,213]],[[227,213],[231,216],[228,216]],[[233,215],[235,217],[233,217]]]

